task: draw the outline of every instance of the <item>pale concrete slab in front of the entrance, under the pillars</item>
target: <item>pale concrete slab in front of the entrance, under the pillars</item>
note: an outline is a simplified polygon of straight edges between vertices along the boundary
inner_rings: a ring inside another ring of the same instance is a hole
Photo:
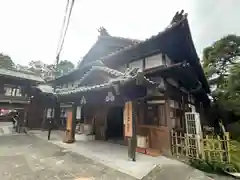
[[[47,139],[47,132],[31,131],[31,133],[44,140]],[[182,164],[164,156],[151,157],[140,153],[137,153],[137,160],[133,162],[128,160],[128,149],[126,146],[105,141],[76,141],[73,144],[66,144],[62,142],[63,136],[63,132],[53,131],[50,142],[137,179],[142,179],[156,166]]]

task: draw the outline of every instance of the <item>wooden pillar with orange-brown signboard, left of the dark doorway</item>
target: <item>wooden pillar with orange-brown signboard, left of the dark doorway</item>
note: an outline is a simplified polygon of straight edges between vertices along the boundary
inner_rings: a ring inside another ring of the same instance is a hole
[[[67,127],[65,133],[65,139],[63,142],[65,143],[73,143],[75,141],[75,129],[76,129],[76,111],[77,106],[75,104],[69,108],[67,112]]]

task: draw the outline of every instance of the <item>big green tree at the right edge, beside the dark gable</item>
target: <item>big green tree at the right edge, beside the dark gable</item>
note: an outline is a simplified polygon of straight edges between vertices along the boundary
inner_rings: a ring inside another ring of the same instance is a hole
[[[206,47],[203,68],[218,113],[240,115],[240,36],[228,35]]]

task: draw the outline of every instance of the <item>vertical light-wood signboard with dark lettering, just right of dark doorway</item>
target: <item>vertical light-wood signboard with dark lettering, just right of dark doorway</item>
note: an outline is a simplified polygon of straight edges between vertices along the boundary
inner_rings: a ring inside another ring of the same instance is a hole
[[[124,125],[125,125],[125,136],[132,137],[132,102],[126,102],[124,107]]]

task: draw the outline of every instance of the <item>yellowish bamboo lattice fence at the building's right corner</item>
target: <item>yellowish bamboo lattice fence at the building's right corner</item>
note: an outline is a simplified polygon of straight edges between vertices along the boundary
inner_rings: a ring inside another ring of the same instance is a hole
[[[229,133],[223,136],[188,135],[171,131],[172,153],[177,157],[203,159],[209,162],[230,163]]]

